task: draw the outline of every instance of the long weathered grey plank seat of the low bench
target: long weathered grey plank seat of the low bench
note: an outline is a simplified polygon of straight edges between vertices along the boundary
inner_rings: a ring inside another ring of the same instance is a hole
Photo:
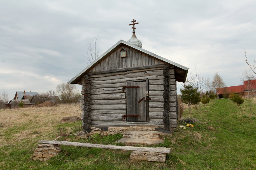
[[[89,148],[105,148],[105,149],[119,149],[128,151],[142,151],[142,152],[157,152],[157,153],[170,153],[171,148],[147,148],[147,147],[136,147],[136,146],[118,146],[118,145],[102,145],[92,143],[81,143],[81,142],[67,142],[67,141],[46,141],[42,140],[38,143],[55,144],[55,145],[69,145],[69,146],[80,146]]]

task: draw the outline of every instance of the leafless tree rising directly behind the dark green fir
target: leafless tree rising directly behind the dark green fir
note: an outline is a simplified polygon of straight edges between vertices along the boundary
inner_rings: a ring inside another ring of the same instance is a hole
[[[194,64],[195,66],[195,64]],[[197,72],[196,66],[195,66],[195,72],[190,73],[191,81],[194,87],[198,89],[198,92],[204,91],[207,89],[207,79],[206,75],[201,75]]]

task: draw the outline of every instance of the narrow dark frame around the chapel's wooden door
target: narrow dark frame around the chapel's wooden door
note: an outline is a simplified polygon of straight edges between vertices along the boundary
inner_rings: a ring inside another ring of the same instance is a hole
[[[149,92],[149,83],[148,83],[148,79],[139,79],[139,80],[126,80],[126,86],[127,86],[127,82],[146,82],[146,91]],[[145,91],[145,93],[146,93]],[[125,99],[126,99],[126,114],[127,114],[127,89],[125,92]],[[146,98],[148,98],[149,96],[146,96]],[[144,122],[134,122],[134,121],[127,121],[127,123],[148,123],[149,122],[149,100],[146,100],[146,121]]]

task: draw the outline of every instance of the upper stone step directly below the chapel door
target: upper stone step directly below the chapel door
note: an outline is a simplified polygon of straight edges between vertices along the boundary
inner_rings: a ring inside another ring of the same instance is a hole
[[[158,139],[159,135],[164,135],[163,132],[158,131],[125,131],[123,132],[123,138],[133,138],[133,139]]]

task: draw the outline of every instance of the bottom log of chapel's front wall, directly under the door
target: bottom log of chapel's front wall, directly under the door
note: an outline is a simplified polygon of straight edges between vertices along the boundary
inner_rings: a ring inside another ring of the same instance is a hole
[[[118,127],[118,126],[159,126],[163,127],[164,122],[161,119],[150,119],[148,123],[127,123],[123,121],[92,121],[92,127]]]

